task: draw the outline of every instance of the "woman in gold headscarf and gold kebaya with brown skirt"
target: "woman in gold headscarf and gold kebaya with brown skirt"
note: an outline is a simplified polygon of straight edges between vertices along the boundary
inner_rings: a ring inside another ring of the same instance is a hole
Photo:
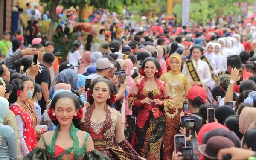
[[[188,76],[181,74],[182,58],[178,53],[173,53],[170,56],[170,68],[168,73],[160,76],[160,80],[165,81],[170,90],[170,96],[174,99],[176,107],[175,113],[165,114],[166,116],[166,133],[163,137],[163,143],[166,153],[166,158],[169,160],[172,158],[172,152],[174,151],[173,137],[176,134],[178,125],[180,123],[180,113],[183,111],[184,93],[185,96],[189,91],[190,82]]]

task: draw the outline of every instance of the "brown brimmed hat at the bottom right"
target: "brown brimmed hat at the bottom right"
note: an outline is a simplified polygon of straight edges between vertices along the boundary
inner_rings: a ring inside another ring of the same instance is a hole
[[[230,147],[235,147],[235,144],[232,142],[232,140],[223,136],[214,136],[209,138],[206,144],[199,145],[198,150],[204,156],[214,160],[218,159],[217,155],[221,149]]]

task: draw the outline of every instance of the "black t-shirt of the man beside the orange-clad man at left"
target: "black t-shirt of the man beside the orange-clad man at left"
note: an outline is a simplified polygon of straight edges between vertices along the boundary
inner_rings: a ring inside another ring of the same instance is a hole
[[[41,85],[42,83],[48,84],[48,91],[50,90],[50,86],[51,86],[51,77],[50,77],[50,72],[47,69],[46,66],[40,64],[42,71],[41,73],[38,72],[38,75],[35,77],[35,83]],[[44,110],[46,108],[46,102],[44,99],[44,96],[42,96],[41,100],[38,102],[38,104],[41,107],[41,113],[44,113]]]

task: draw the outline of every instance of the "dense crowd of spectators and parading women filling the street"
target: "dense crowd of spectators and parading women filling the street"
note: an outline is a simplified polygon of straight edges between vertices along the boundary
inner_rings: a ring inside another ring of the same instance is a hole
[[[42,20],[34,6],[33,24]],[[93,12],[100,29],[87,38],[73,31],[61,64],[35,27],[12,40],[3,33],[0,159],[182,159],[175,135],[187,136],[186,147],[198,140],[199,159],[255,159],[255,20],[175,27],[164,15],[135,22],[124,13]],[[73,29],[73,16],[56,36]],[[184,116],[192,123],[182,125]]]

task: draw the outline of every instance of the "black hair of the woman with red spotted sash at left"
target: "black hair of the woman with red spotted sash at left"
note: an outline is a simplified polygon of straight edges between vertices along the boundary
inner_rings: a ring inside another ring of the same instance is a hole
[[[17,97],[17,90],[23,90],[24,89],[24,81],[21,79],[13,79],[10,81],[10,89],[12,90],[12,93],[10,94],[10,97],[8,99],[9,103],[15,103],[18,99]]]

